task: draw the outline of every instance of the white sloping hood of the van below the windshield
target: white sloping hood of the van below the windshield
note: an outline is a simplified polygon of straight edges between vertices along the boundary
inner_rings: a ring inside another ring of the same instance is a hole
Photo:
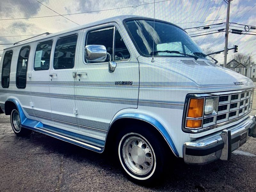
[[[171,72],[172,75],[177,76],[176,82],[184,82],[185,78],[186,81],[193,82],[198,88],[234,87],[234,89],[244,89],[254,87],[251,79],[235,71],[220,67],[211,60],[195,60],[187,57],[157,57],[154,58],[155,61],[152,63],[152,58],[147,59],[150,59],[151,64],[164,68],[164,70],[169,71],[169,74]],[[171,81],[173,82],[173,80]]]

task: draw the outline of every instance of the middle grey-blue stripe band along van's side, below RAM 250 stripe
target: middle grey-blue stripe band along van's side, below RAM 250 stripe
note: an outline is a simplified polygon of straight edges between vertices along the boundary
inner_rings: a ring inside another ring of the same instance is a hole
[[[86,97],[86,96],[74,96],[74,95],[61,95],[61,94],[50,94],[50,93],[38,93],[38,92],[22,92],[22,91],[7,91],[0,90],[3,93],[12,93],[20,95],[31,95],[37,97],[50,97],[56,99],[70,99],[70,100],[83,100],[83,101],[94,101],[94,102],[105,102],[105,103],[117,103],[124,105],[135,105],[137,106],[149,106],[149,107],[161,107],[161,108],[174,108],[174,109],[183,109],[184,103],[172,103],[164,101],[149,101],[149,100],[128,100],[128,99],[118,99],[118,98],[100,98],[100,97]]]

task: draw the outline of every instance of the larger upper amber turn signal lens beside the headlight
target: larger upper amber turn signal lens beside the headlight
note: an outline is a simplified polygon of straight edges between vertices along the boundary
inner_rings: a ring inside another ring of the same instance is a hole
[[[202,117],[204,110],[204,99],[190,99],[188,117]]]

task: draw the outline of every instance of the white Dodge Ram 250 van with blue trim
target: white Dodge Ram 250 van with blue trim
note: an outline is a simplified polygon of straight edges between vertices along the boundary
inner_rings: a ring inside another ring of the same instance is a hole
[[[255,130],[254,84],[213,63],[180,27],[118,16],[4,49],[0,105],[33,131],[116,152],[135,181],[164,164],[230,159]]]

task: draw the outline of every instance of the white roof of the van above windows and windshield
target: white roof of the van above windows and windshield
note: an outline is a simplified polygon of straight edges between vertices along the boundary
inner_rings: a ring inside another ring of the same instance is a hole
[[[109,22],[122,23],[124,19],[128,19],[128,18],[144,18],[144,19],[147,18],[147,19],[152,19],[152,18],[149,18],[149,17],[135,16],[135,15],[115,16],[115,17],[111,17],[111,18],[108,18],[108,19],[104,19],[104,20],[99,20],[99,21],[96,21],[96,22],[88,23],[88,24],[85,24],[85,25],[80,25],[78,27],[70,28],[70,29],[67,29],[67,30],[64,30],[64,31],[60,31],[60,32],[57,32],[57,33],[52,33],[50,35],[39,36],[39,37],[35,37],[35,38],[32,37],[32,39],[29,38],[28,40],[26,40],[26,39],[25,40],[21,40],[22,43],[13,44],[13,45],[11,45],[9,47],[4,48],[4,50],[11,49],[13,47],[20,46],[20,45],[23,45],[23,44],[28,44],[28,43],[35,42],[35,41],[40,41],[40,40],[43,40],[43,39],[46,39],[46,38],[51,38],[51,37],[54,37],[54,36],[62,35],[62,34],[65,34],[65,33],[72,32],[72,31],[77,31],[77,30],[80,30],[80,29],[84,29],[84,28],[88,28],[88,27],[92,27],[92,26],[96,26],[96,25],[101,25],[101,24],[104,24],[104,23],[109,23]],[[175,24],[173,24],[173,25],[175,25]],[[177,26],[177,25],[175,25],[175,26]],[[179,27],[179,26],[177,26],[177,27]],[[182,30],[184,30],[184,29],[182,29]]]

